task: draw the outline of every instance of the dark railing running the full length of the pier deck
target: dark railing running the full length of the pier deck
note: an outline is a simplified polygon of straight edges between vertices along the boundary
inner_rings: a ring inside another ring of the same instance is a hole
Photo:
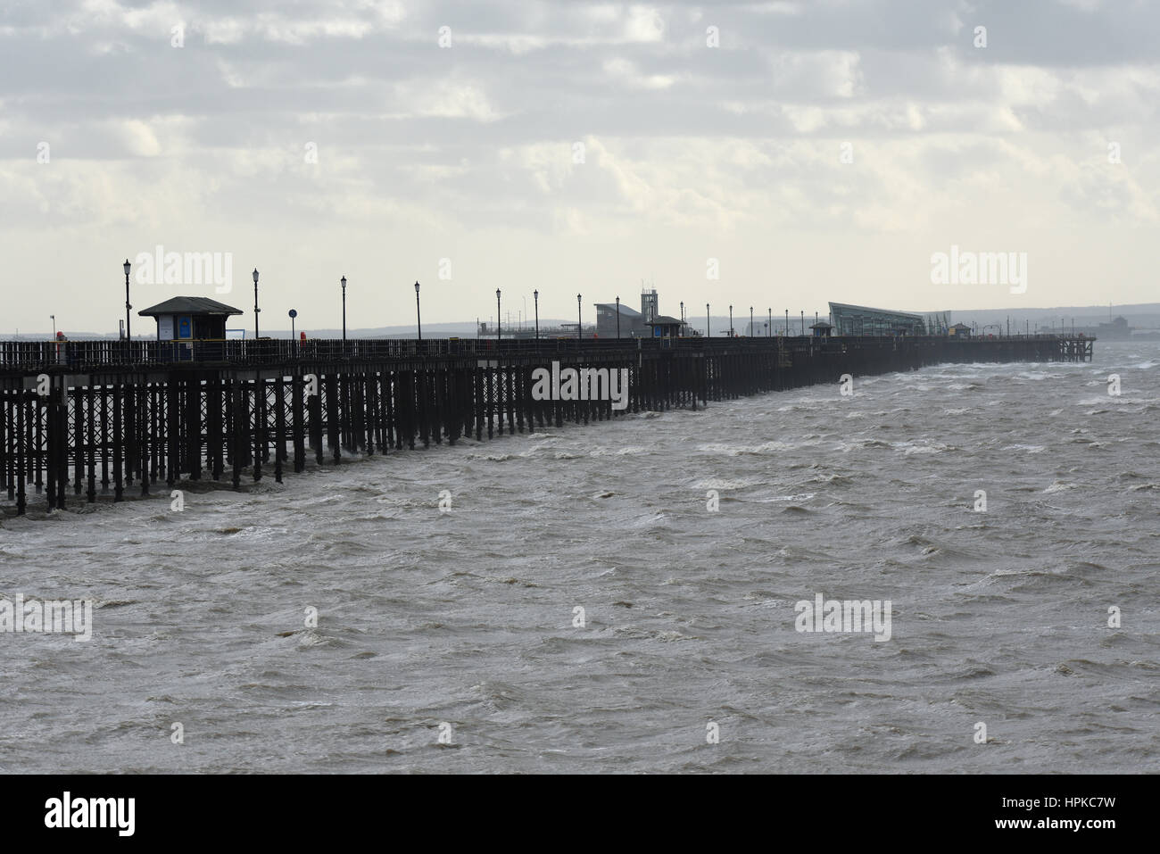
[[[293,364],[319,361],[367,361],[422,359],[436,356],[524,355],[545,359],[553,354],[624,352],[638,349],[681,349],[720,352],[730,348],[764,349],[770,346],[790,352],[841,352],[846,348],[879,348],[899,339],[886,335],[843,338],[753,336],[753,338],[433,338],[433,339],[252,339],[252,340],[81,340],[81,341],[0,341],[0,370],[65,368],[94,370],[111,367],[175,366],[182,363],[230,364],[239,367]],[[912,343],[954,341],[929,335],[906,339]],[[1010,335],[965,338],[967,341],[1089,342],[1095,339],[1070,335]]]

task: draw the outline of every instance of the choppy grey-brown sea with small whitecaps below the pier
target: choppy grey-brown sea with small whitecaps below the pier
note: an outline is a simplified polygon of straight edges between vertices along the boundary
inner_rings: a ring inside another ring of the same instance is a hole
[[[1154,773],[1158,367],[1099,342],[7,519],[0,596],[96,609],[0,634],[0,770]],[[819,593],[891,638],[797,631]]]

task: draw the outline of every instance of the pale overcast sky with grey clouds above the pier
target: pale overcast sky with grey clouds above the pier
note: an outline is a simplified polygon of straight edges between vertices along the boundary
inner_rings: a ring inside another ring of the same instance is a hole
[[[121,263],[232,253],[233,290],[351,327],[827,299],[1160,301],[1160,3],[0,5],[3,333],[114,332]],[[977,28],[985,27],[986,46]],[[931,255],[1027,253],[1025,292]],[[716,270],[717,277],[711,277]],[[443,277],[441,277],[441,274]],[[160,276],[158,276],[161,278]]]

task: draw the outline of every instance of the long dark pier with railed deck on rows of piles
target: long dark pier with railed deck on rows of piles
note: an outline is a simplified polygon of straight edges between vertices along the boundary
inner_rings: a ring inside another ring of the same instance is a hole
[[[697,408],[943,362],[1090,361],[1090,338],[258,339],[0,342],[0,500],[24,514],[183,479],[300,472],[313,456]],[[532,371],[628,370],[628,405],[537,400]],[[647,425],[641,425],[647,429]]]

